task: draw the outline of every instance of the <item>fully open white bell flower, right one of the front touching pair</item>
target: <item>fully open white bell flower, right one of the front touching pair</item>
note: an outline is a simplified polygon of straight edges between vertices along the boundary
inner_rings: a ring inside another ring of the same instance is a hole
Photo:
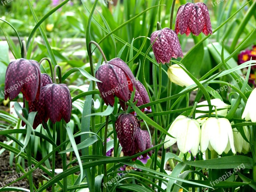
[[[232,150],[235,154],[232,127],[226,118],[208,118],[201,129],[200,149],[203,153],[207,148],[215,150],[219,155]]]

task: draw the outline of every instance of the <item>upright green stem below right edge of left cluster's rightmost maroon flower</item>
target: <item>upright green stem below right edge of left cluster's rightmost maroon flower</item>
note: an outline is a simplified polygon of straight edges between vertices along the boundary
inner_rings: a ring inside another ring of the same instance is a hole
[[[67,138],[67,131],[65,128],[63,128],[62,120],[60,121],[60,143],[63,143],[66,141]],[[66,150],[66,144],[61,147],[61,151]],[[63,154],[62,156],[62,169],[63,171],[67,170],[67,154]],[[68,177],[63,178],[63,192],[68,191]]]

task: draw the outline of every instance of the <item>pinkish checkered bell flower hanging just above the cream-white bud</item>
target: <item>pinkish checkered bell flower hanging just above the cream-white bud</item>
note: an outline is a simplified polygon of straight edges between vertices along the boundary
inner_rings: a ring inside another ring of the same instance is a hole
[[[157,37],[157,39],[156,39]],[[153,44],[152,49],[156,57],[157,63],[169,63],[173,58],[183,57],[180,41],[176,33],[169,29],[155,31],[150,36],[150,43]]]

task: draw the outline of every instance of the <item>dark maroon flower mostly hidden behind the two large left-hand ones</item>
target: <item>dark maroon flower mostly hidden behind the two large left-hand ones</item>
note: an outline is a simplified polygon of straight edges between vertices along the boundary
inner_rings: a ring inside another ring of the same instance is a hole
[[[52,79],[48,74],[41,74],[41,87],[44,87],[47,84],[52,84]],[[25,99],[23,97],[23,108],[25,107]],[[39,99],[39,101],[35,100],[33,102],[28,102],[28,112],[37,111],[34,123],[33,123],[33,129],[36,129],[36,127],[39,124],[42,124],[43,120],[45,122],[48,121],[49,116],[47,116],[44,103],[42,102],[42,97]],[[22,126],[25,126],[25,122],[22,121]]]

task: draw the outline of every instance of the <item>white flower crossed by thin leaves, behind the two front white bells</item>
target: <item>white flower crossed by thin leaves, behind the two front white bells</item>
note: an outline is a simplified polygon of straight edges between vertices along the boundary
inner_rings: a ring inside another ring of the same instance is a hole
[[[211,104],[212,104],[212,106],[215,106],[217,109],[226,108],[226,109],[217,111],[217,115],[224,116],[224,117],[227,115],[228,107],[229,107],[228,104],[224,103],[220,99],[211,99]],[[200,103],[197,104],[197,106],[200,106],[200,105],[208,105],[208,103],[207,103],[207,101],[203,101],[203,102],[200,102]],[[214,107],[212,107],[212,109],[214,110]],[[198,107],[198,108],[196,108],[196,110],[208,111],[209,107],[208,106]],[[212,112],[212,114],[215,114],[215,112]],[[203,124],[206,121],[206,119],[208,118],[208,117],[197,118],[197,117],[203,116],[203,115],[208,115],[208,113],[196,113],[196,115],[195,115],[196,120],[200,124]]]

